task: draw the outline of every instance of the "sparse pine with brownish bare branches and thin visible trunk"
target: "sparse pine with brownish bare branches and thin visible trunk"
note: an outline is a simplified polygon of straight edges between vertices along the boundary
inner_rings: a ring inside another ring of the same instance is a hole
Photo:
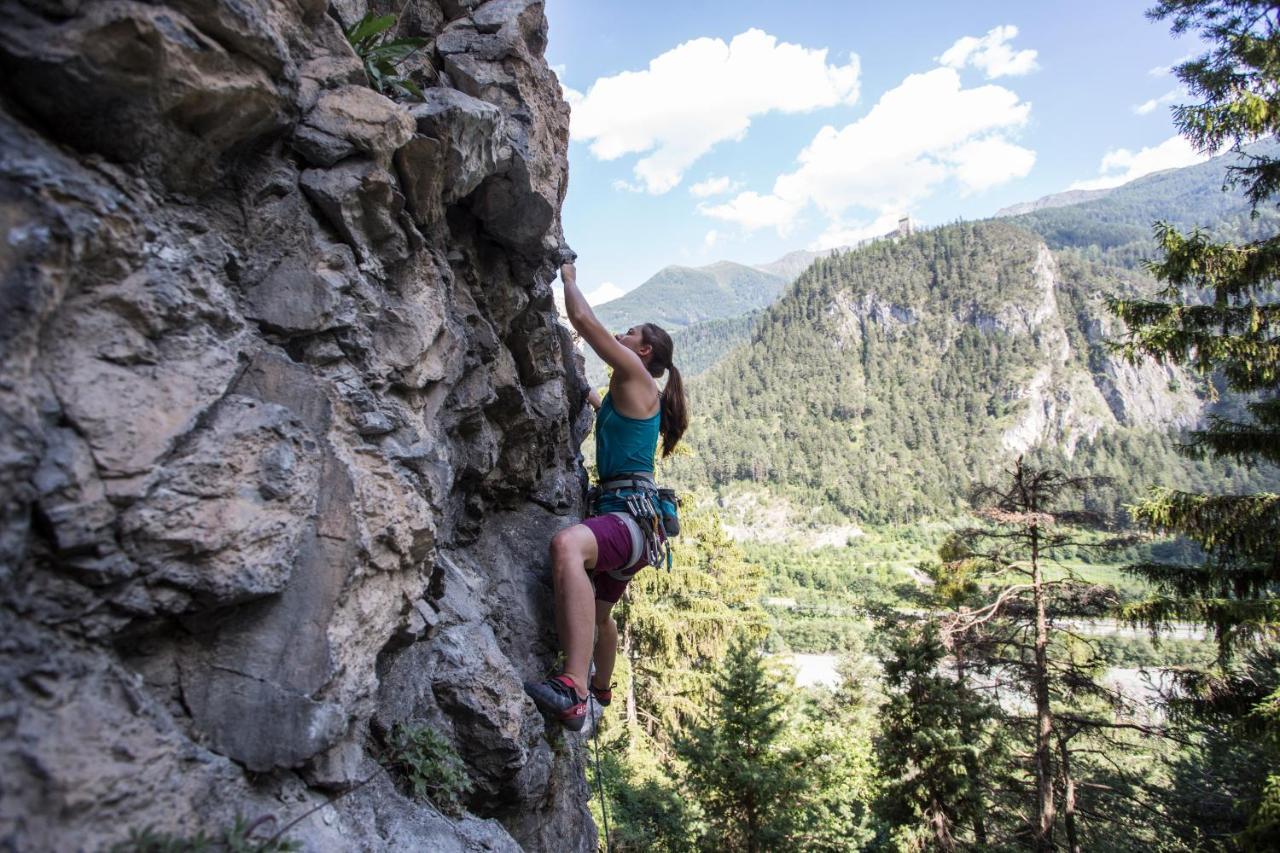
[[[998,485],[974,491],[980,524],[956,532],[941,549],[943,564],[932,570],[938,603],[954,608],[941,620],[941,637],[959,684],[980,675],[1012,686],[1014,697],[1030,706],[1029,716],[1007,708],[1000,713],[1010,735],[1027,743],[1030,758],[1029,767],[1015,774],[1025,779],[1029,770],[1030,785],[1014,777],[1005,785],[1030,788],[1029,847],[1052,850],[1065,840],[1065,849],[1079,850],[1088,827],[1076,790],[1088,765],[1078,763],[1076,753],[1117,731],[1156,730],[1121,719],[1128,703],[1098,680],[1103,660],[1068,622],[1101,615],[1114,603],[1114,592],[1083,581],[1061,558],[1128,539],[1087,533],[1106,528],[1110,519],[1064,506],[1068,498],[1096,497],[1107,488],[1105,480],[1038,469],[1021,459],[1007,474]],[[1057,576],[1050,576],[1051,565]],[[1089,743],[1073,744],[1078,738]],[[1101,790],[1114,786],[1091,788],[1101,800]],[[1093,822],[1125,820],[1116,808],[1093,807],[1089,813]],[[975,826],[975,836],[980,831]],[[1059,831],[1065,839],[1056,838]]]

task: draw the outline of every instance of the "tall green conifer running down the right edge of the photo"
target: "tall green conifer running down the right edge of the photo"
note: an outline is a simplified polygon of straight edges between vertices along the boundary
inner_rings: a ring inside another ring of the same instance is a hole
[[[1175,69],[1197,101],[1175,109],[1183,136],[1202,151],[1229,146],[1240,154],[1230,182],[1243,187],[1256,210],[1274,201],[1280,159],[1242,147],[1280,132],[1280,8],[1261,0],[1160,0],[1148,15],[1171,22],[1175,35],[1198,31],[1210,45]],[[1226,391],[1247,394],[1239,416],[1211,419],[1192,433],[1190,455],[1280,462],[1280,234],[1230,243],[1167,224],[1156,232],[1164,257],[1149,269],[1166,287],[1155,300],[1112,302],[1129,327],[1121,351],[1192,365]],[[1270,771],[1242,840],[1266,838],[1280,830],[1277,703],[1274,693],[1251,695],[1249,685],[1258,683],[1252,665],[1231,662],[1238,648],[1274,642],[1280,630],[1280,496],[1156,488],[1134,515],[1204,552],[1193,565],[1133,566],[1161,594],[1124,612],[1153,630],[1171,620],[1213,629],[1220,667],[1184,679],[1190,694],[1181,710],[1212,720],[1234,708],[1242,734],[1253,729],[1258,758],[1270,762]]]

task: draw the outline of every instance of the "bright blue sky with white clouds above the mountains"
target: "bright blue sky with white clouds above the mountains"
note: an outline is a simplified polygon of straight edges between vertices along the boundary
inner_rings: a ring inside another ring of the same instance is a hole
[[[1148,3],[548,0],[593,301],[1199,158]]]

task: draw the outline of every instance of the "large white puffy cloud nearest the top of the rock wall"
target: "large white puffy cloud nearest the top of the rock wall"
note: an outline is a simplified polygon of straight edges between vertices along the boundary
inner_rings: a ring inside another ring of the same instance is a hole
[[[740,140],[767,113],[806,113],[858,100],[859,61],[748,29],[724,44],[695,38],[637,72],[602,77],[572,106],[570,134],[600,160],[645,154],[635,177],[660,195],[719,142]],[[573,95],[577,95],[573,92]]]

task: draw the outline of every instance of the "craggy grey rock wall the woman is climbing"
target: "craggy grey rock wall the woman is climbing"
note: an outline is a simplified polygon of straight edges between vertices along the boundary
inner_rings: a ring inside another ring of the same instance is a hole
[[[367,87],[364,0],[0,3],[0,849],[595,847],[521,690],[589,423],[547,22],[371,6],[422,102]]]

